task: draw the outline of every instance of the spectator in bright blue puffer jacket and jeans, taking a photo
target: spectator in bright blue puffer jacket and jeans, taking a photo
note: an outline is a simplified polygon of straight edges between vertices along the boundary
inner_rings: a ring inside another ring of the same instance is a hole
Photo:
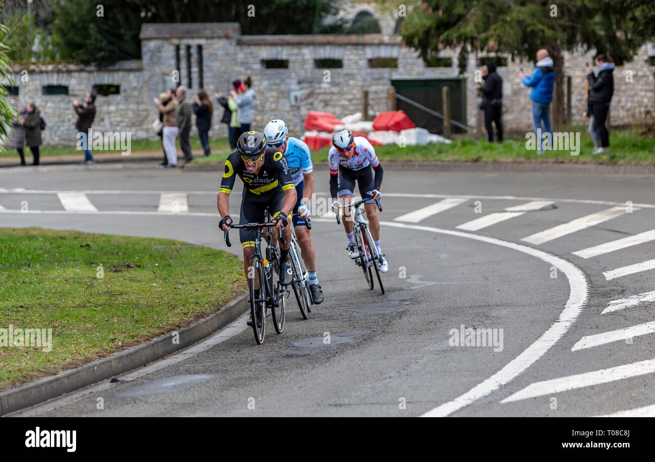
[[[532,76],[527,75],[521,69],[519,74],[521,81],[525,86],[533,87],[530,92],[530,99],[533,101],[533,126],[534,134],[537,137],[537,154],[542,153],[543,143],[540,133],[550,133],[550,139],[553,139],[553,132],[550,128],[550,114],[548,107],[553,100],[553,86],[555,86],[555,67],[553,60],[548,56],[547,50],[536,52],[536,69]],[[544,122],[544,132],[541,130],[542,121]]]

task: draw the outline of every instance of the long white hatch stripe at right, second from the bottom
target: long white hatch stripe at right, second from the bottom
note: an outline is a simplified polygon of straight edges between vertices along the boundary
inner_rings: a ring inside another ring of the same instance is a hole
[[[505,403],[543,395],[553,395],[562,391],[601,385],[616,380],[652,374],[653,372],[655,372],[655,359],[647,359],[646,361],[639,361],[639,363],[623,364],[607,369],[594,370],[593,372],[585,372],[584,374],[534,382],[500,402]]]

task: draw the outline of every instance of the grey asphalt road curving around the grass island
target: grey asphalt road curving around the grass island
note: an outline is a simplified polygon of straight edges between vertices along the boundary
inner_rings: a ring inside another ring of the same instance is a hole
[[[315,175],[325,197],[327,171]],[[0,226],[176,238],[239,254],[217,232],[219,179],[150,165],[6,169]],[[343,228],[314,217],[326,300],[309,320],[291,296],[285,331],[276,335],[269,325],[262,346],[242,318],[118,383],[14,415],[655,412],[654,272],[648,264],[614,271],[655,253],[650,176],[389,168],[382,189],[386,294],[367,290],[346,255]],[[170,199],[161,194],[172,192],[188,210],[179,200],[175,211],[160,211]],[[238,216],[240,191],[232,198]],[[96,210],[75,210],[89,205]],[[612,244],[597,247],[604,243]],[[475,339],[466,329],[491,334],[495,345],[482,346],[485,335]]]

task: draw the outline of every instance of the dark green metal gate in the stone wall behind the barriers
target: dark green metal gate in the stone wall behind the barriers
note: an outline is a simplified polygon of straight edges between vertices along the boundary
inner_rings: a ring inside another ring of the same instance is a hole
[[[451,96],[451,119],[466,126],[466,77],[398,77],[391,79],[391,84],[396,88],[396,94],[415,103],[397,98],[396,109],[402,109],[417,127],[440,135],[443,134],[441,89],[448,86]],[[417,105],[430,109],[430,112]],[[441,117],[432,112],[440,114]],[[466,130],[455,124],[451,128],[452,133],[466,133]]]

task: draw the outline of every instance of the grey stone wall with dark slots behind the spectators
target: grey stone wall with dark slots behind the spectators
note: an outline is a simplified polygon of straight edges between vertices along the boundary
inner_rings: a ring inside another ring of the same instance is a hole
[[[180,50],[179,74],[176,72],[176,45]],[[214,99],[214,92],[229,92],[230,82],[252,76],[257,92],[253,128],[262,130],[272,118],[286,120],[293,135],[300,134],[297,109],[291,107],[289,92],[314,88],[312,106],[303,106],[304,120],[310,107],[341,117],[356,113],[362,107],[362,92],[369,92],[369,108],[373,113],[388,110],[390,79],[394,77],[457,77],[458,50],[443,50],[441,56],[452,58],[451,67],[426,67],[413,48],[396,35],[268,35],[243,36],[238,24],[144,24],[141,29],[140,62],[122,62],[107,69],[83,66],[31,67],[28,81],[21,81],[21,71],[14,68],[18,98],[12,104],[34,101],[41,108],[48,128],[43,133],[48,144],[75,142],[73,99],[83,99],[94,84],[120,84],[121,94],[98,96],[98,113],[94,128],[111,132],[132,132],[132,139],[156,135],[151,124],[158,118],[152,99],[178,81],[188,86],[187,45],[191,48],[191,86],[189,97],[197,98],[198,45],[202,46],[204,89],[212,96],[215,113],[212,137],[226,136],[221,124],[223,108]],[[572,116],[575,123],[585,124],[582,112],[586,107],[584,63],[591,62],[593,50],[565,55],[565,73],[572,77]],[[643,46],[633,62],[614,71],[615,92],[612,99],[612,124],[652,122],[655,105],[655,67],[648,64],[655,55],[652,45]],[[332,58],[343,61],[339,69],[316,67],[314,60]],[[396,58],[397,68],[369,68],[371,58]],[[263,60],[288,61],[288,69],[267,69]],[[523,86],[518,73],[527,73],[533,63],[508,62],[498,67],[503,78],[506,130],[531,129],[530,89]],[[475,106],[474,72],[477,56],[470,54],[464,74],[467,85],[467,123],[474,130],[478,111]],[[630,79],[626,79],[629,75]],[[630,80],[630,81],[629,81]],[[43,86],[62,84],[69,87],[68,96],[45,96]],[[195,130],[194,130],[195,131]],[[193,134],[193,132],[192,132]]]

